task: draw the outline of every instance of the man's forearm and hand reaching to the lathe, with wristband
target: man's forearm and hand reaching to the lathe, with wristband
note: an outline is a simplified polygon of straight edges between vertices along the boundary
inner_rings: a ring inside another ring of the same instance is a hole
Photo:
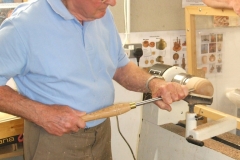
[[[119,68],[113,79],[128,90],[136,92],[148,92],[146,82],[151,75],[133,62]],[[171,111],[170,104],[179,101],[188,95],[186,86],[178,83],[166,82],[162,79],[154,78],[149,82],[149,88],[152,97],[162,97],[163,101],[157,101],[156,104],[161,108]]]

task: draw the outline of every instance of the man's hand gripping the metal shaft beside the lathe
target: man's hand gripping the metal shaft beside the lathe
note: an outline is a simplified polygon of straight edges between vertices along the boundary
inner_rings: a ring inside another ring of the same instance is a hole
[[[159,108],[171,111],[170,104],[175,101],[184,99],[188,95],[188,88],[176,82],[166,82],[161,79],[154,78],[149,83],[152,91],[152,97],[162,97],[162,100],[156,101],[155,104]]]

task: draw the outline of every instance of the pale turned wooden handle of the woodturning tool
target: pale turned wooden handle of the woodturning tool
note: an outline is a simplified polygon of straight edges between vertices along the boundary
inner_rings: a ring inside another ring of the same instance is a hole
[[[96,119],[117,116],[117,115],[123,114],[125,112],[128,112],[129,110],[131,110],[130,103],[119,103],[119,104],[114,104],[112,106],[109,106],[107,108],[100,109],[96,112],[86,114],[86,115],[82,116],[81,118],[85,122],[88,122],[88,121],[92,121],[92,120],[96,120]]]

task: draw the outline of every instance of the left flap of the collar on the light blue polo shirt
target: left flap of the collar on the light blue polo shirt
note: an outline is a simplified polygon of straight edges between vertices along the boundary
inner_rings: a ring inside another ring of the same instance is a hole
[[[47,0],[51,8],[64,19],[74,19],[74,16],[67,10],[61,0]]]

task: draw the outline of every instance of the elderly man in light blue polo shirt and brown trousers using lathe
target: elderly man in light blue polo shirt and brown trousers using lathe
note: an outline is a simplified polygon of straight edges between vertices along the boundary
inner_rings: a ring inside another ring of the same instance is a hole
[[[185,98],[188,89],[151,77],[126,57],[108,6],[116,0],[34,0],[0,27],[0,111],[23,117],[26,160],[111,160],[109,118],[81,116],[128,90]],[[6,86],[13,78],[18,92]]]

